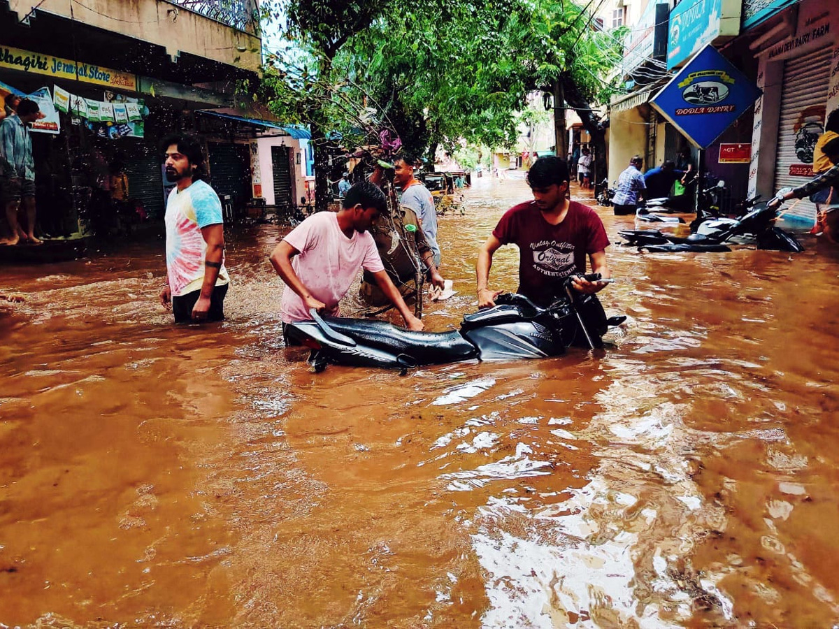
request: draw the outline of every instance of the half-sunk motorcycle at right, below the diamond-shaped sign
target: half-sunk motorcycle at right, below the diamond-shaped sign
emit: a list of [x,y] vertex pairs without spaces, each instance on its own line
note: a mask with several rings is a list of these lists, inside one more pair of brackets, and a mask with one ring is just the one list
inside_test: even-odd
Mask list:
[[685,238],[653,230],[618,233],[627,241],[625,244],[652,252],[723,252],[731,251],[729,244],[755,244],[758,249],[770,251],[804,251],[793,234],[774,224],[780,206],[769,207],[758,203],[758,199],[744,201],[746,212],[738,218],[706,217],[696,225],[696,233]]

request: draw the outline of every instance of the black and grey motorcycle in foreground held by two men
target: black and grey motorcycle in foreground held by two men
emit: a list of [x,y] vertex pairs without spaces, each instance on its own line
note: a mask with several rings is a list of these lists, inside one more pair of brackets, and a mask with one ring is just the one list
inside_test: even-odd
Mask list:
[[[590,282],[599,273],[583,276]],[[610,281],[610,280],[604,280]],[[311,310],[312,320],[286,327],[289,344],[310,348],[309,362],[315,372],[330,363],[408,369],[424,365],[478,359],[509,361],[560,356],[571,346],[602,347],[609,327],[625,316],[607,317],[593,294],[573,289],[571,278],[563,284],[565,294],[541,308],[520,294],[502,294],[492,308],[463,317],[460,330],[414,332],[385,321],[321,317]]]

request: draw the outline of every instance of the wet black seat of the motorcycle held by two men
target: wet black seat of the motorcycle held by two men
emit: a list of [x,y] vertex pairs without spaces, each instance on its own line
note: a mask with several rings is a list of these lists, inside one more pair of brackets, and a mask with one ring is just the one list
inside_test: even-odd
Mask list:
[[414,332],[387,321],[345,317],[322,319],[332,330],[349,336],[358,345],[410,356],[417,365],[465,361],[477,356],[477,348],[457,331]]

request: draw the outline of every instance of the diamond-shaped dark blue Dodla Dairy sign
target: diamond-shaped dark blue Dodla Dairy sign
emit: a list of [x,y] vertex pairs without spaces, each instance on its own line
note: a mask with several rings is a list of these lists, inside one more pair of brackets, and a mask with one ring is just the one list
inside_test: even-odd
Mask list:
[[758,87],[709,44],[650,103],[690,142],[708,148],[758,96]]

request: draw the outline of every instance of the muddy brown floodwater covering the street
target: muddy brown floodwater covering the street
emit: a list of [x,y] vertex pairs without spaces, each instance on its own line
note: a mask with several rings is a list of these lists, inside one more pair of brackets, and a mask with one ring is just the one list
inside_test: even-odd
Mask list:
[[[477,247],[528,197],[476,179]],[[633,217],[599,210],[616,241]],[[3,267],[0,627],[829,627],[839,256],[610,247],[601,355],[396,373],[285,356],[275,226],[228,320],[175,328],[163,245]],[[515,289],[498,252],[495,288]],[[357,299],[347,300],[357,309]]]

